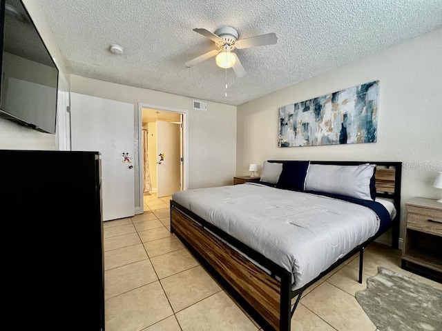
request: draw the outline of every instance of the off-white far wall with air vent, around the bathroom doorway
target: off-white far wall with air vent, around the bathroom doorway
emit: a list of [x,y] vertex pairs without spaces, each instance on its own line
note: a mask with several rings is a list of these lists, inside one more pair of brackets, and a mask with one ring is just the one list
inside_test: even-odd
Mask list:
[[[189,161],[189,189],[233,183],[236,172],[235,106],[208,102],[208,110],[202,112],[192,109],[193,99],[188,97],[76,75],[70,76],[70,88],[72,92],[133,103],[136,114],[138,103],[188,110],[186,119],[189,124],[189,150],[186,157]],[[138,128],[137,116],[135,121],[135,126]],[[135,135],[134,141],[137,141],[137,132]],[[138,166],[136,149],[137,145],[135,164]],[[135,185],[138,183],[139,179],[136,178]],[[137,187],[139,188],[139,185]]]

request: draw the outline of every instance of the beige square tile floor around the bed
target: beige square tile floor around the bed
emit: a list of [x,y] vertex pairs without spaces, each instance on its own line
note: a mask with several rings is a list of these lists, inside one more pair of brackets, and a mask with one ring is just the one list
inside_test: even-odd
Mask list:
[[[145,207],[153,210],[104,223],[106,330],[260,330],[169,232],[170,197],[146,197]],[[167,208],[156,208],[161,205],[157,200]],[[399,250],[369,245],[363,284],[357,281],[355,256],[305,291],[292,330],[375,331],[354,295],[366,287],[367,277],[377,274],[378,266],[442,288],[402,270],[400,257]]]

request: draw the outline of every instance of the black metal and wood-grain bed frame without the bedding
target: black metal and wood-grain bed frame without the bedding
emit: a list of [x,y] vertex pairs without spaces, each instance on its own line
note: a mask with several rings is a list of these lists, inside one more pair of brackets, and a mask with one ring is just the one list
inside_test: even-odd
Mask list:
[[[392,228],[392,247],[398,248],[401,220],[401,162],[310,161],[310,163],[376,164],[376,197],[392,199],[396,207],[396,217],[390,228]],[[302,292],[336,266],[353,257],[356,252],[360,253],[359,282],[362,283],[363,251],[369,243],[385,231],[376,233],[374,237],[355,247],[349,254],[319,274],[316,279],[312,279],[305,286],[294,291],[291,290],[290,272],[173,200],[171,200],[171,232],[176,234],[204,268],[260,324],[263,330],[290,331],[291,316],[296,310]],[[244,254],[270,271],[270,274],[244,257]],[[294,297],[297,298],[294,308],[291,309],[291,299]]]

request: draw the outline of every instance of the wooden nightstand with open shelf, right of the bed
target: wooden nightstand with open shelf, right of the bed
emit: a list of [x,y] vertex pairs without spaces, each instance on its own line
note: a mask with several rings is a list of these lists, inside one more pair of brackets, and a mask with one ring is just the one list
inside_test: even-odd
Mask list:
[[405,203],[402,268],[442,280],[442,203],[415,198]]

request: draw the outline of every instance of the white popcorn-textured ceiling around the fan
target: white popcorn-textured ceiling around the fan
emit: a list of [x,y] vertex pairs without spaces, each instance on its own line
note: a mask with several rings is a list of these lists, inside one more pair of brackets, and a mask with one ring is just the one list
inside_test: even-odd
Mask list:
[[[442,26],[441,0],[39,0],[71,73],[238,106]],[[193,32],[233,26],[240,39],[278,43],[235,50],[238,78]],[[108,47],[117,43],[124,54]]]

